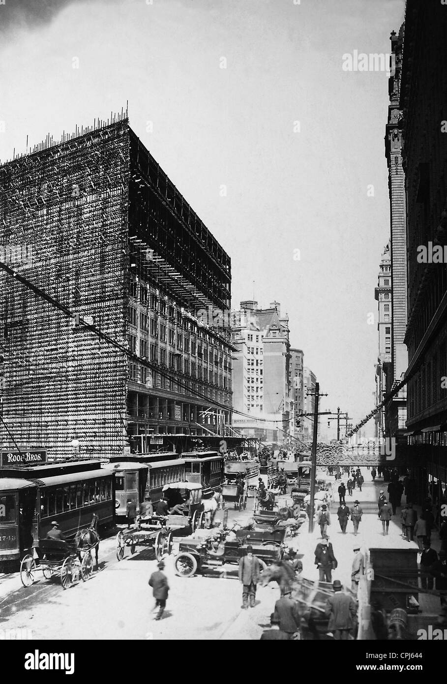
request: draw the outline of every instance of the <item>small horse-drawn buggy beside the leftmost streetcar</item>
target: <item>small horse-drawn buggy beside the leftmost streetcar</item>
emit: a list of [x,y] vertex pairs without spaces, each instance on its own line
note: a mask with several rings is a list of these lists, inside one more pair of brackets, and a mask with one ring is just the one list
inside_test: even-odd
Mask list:
[[64,589],[70,588],[79,579],[85,582],[92,575],[91,549],[82,549],[85,553],[81,559],[81,549],[76,543],[59,539],[40,539],[36,550],[39,555],[37,562],[30,554],[25,555],[21,562],[21,581],[24,587],[30,587],[33,584],[39,571],[45,579],[59,575]]

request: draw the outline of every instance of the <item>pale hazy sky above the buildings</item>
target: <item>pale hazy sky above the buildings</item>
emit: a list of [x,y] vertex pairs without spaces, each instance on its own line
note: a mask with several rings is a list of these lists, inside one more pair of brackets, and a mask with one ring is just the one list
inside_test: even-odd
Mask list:
[[[389,53],[404,11],[404,0],[5,0],[0,160],[128,101],[132,129],[230,254],[232,308],[280,302],[328,394],[322,410],[356,423],[375,404],[388,73],[344,70],[343,55]],[[334,421],[322,425],[333,437]]]

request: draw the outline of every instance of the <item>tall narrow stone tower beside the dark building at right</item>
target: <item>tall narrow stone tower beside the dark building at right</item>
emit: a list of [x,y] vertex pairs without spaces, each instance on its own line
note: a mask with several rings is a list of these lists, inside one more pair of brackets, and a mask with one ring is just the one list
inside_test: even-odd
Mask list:
[[[405,174],[402,166],[402,111],[399,107],[402,75],[403,26],[398,36],[391,34],[392,68],[388,90],[390,105],[385,129],[385,157],[388,164],[390,195],[390,256],[392,287],[391,364],[388,367],[388,390],[401,382],[408,364],[405,330],[407,327],[407,225],[405,215]],[[383,350],[381,350],[383,353]],[[380,362],[379,362],[380,363]],[[387,362],[388,363],[388,362]],[[382,397],[383,398],[383,397]],[[394,395],[385,407],[385,430],[388,436],[405,442],[407,389]]]

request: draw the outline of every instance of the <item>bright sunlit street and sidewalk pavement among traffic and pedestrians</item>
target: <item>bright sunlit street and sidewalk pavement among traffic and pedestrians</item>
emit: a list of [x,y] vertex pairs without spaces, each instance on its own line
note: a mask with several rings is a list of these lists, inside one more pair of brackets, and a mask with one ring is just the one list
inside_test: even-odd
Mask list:
[[[366,482],[363,491],[347,497],[350,505],[358,498],[364,510],[360,526],[360,541],[369,547],[409,548],[414,542],[401,538],[400,510],[390,523],[390,534],[383,537],[377,518],[377,498],[383,482],[370,482],[368,471],[362,469]],[[329,478],[333,481],[333,478]],[[345,478],[346,479],[346,478]],[[384,487],[386,491],[386,487]],[[230,520],[246,521],[252,513],[253,500],[247,511],[230,510]],[[329,538],[338,560],[333,579],[350,585],[353,559],[353,527],[348,523],[348,534],[342,535],[336,518],[338,499],[331,504],[332,524]],[[217,521],[219,520],[217,514]],[[300,555],[303,554],[303,575],[317,579],[314,549],[319,541],[319,528],[308,534],[301,528],[296,538]],[[174,547],[175,551],[175,547]],[[152,590],[148,587],[150,573],[157,562],[150,549],[134,556],[126,549],[126,556],[118,563],[115,538],[100,544],[100,572],[92,579],[63,590],[59,579],[46,580],[38,573],[38,581],[24,588],[18,573],[0,577],[0,630],[21,628],[32,632],[34,639],[131,639],[131,640],[257,640],[262,628],[267,627],[275,601],[279,597],[276,585],[258,587],[256,607],[241,610],[241,585],[236,566],[224,574],[217,570],[213,577],[177,577],[174,573],[174,554],[167,559],[166,574],[170,595],[165,617],[153,620]]]

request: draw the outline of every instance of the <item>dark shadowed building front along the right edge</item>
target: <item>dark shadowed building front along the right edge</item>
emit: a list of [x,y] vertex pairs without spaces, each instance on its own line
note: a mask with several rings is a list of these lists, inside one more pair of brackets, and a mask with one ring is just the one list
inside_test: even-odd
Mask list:
[[437,491],[447,479],[447,266],[444,257],[430,258],[435,248],[447,251],[446,35],[442,3],[407,0],[399,98],[407,191],[407,428],[409,456],[421,466],[421,496],[424,472],[436,478]]

